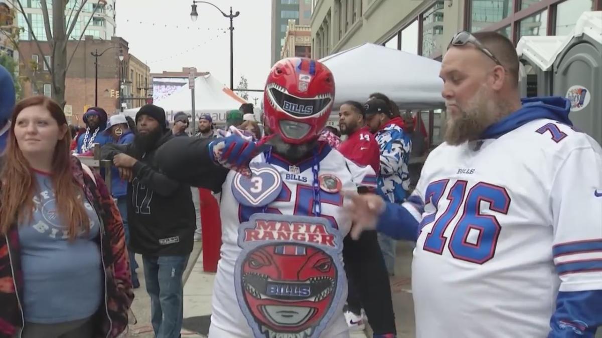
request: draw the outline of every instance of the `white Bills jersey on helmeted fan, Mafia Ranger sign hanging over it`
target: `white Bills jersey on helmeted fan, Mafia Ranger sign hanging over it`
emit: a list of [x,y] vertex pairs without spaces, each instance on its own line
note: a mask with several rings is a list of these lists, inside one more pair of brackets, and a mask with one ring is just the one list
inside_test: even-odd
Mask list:
[[[250,179],[248,189],[240,174],[231,171],[226,177],[210,338],[349,336],[341,250],[351,224],[341,217],[342,192],[359,185],[375,188],[376,176],[371,167],[359,167],[325,144],[317,158],[319,219],[308,218],[315,201],[313,159],[293,165],[271,155],[282,190],[265,207],[241,204],[237,194],[243,191],[251,199],[268,194],[270,168],[253,171],[258,178]],[[263,154],[253,159],[252,170],[262,163]]]

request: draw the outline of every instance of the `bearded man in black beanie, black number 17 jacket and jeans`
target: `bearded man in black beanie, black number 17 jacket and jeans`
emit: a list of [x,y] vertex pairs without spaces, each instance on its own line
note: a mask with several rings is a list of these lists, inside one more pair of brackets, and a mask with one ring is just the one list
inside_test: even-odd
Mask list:
[[193,248],[194,205],[190,186],[161,173],[155,150],[173,138],[165,112],[145,105],[136,114],[138,134],[126,145],[108,144],[102,158],[113,160],[128,185],[130,245],[142,254],[151,322],[157,338],[177,338],[182,328],[182,275]]

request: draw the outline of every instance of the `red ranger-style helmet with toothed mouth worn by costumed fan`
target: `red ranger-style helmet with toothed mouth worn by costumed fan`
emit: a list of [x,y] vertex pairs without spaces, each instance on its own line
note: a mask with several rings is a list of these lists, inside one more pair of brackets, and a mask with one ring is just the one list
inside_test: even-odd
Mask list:
[[264,91],[264,120],[285,143],[320,135],[332,111],[335,80],[328,67],[308,58],[286,58],[270,70]]

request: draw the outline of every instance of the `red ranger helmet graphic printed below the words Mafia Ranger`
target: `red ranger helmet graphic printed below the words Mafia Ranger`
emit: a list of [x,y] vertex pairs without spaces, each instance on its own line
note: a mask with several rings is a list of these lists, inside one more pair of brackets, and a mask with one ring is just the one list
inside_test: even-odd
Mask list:
[[337,268],[318,248],[268,244],[247,256],[242,279],[244,300],[267,337],[309,337],[332,304]]

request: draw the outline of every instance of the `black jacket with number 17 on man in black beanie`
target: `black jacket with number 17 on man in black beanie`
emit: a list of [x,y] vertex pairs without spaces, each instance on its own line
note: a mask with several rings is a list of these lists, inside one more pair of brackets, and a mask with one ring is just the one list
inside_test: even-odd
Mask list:
[[193,248],[196,217],[190,186],[165,176],[155,161],[156,150],[171,138],[167,132],[144,154],[137,152],[135,143],[102,147],[103,159],[119,153],[138,159],[128,184],[128,223],[129,245],[139,254],[184,256]]

